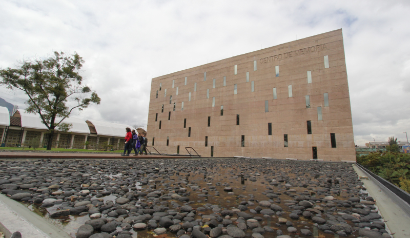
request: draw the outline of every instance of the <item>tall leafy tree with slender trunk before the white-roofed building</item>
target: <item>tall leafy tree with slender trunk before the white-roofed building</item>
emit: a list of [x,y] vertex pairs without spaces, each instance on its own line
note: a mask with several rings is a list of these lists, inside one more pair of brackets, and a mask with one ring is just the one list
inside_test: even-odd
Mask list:
[[[79,74],[84,60],[76,52],[54,52],[47,58],[24,59],[15,69],[0,69],[0,85],[10,90],[22,90],[29,97],[28,113],[38,113],[50,131],[47,149],[51,149],[54,129],[69,117],[74,109],[83,110],[99,104],[100,98],[87,85],[82,85]],[[75,102],[71,108],[68,101]],[[71,105],[71,104],[70,104]],[[61,125],[67,129],[67,125]]]

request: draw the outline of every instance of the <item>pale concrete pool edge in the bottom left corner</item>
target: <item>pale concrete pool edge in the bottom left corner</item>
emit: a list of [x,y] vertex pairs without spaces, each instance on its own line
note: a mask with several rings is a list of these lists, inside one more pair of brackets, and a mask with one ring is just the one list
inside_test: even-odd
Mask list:
[[0,194],[0,231],[6,238],[15,231],[22,233],[23,238],[71,238],[65,231],[3,194]]

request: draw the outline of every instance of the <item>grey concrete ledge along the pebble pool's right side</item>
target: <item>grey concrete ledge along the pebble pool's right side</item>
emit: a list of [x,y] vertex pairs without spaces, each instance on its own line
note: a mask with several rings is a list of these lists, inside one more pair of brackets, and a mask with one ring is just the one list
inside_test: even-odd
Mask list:
[[394,237],[410,237],[410,205],[388,190],[370,174],[353,165],[359,176],[366,176],[369,180],[362,180],[368,193],[376,201],[376,205]]

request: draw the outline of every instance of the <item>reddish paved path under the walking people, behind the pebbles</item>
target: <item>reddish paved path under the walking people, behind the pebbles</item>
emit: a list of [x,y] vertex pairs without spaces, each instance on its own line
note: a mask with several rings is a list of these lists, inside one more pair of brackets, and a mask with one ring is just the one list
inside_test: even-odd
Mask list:
[[189,156],[172,155],[138,155],[121,156],[119,153],[70,153],[70,152],[19,152],[0,151],[0,158],[190,158]]

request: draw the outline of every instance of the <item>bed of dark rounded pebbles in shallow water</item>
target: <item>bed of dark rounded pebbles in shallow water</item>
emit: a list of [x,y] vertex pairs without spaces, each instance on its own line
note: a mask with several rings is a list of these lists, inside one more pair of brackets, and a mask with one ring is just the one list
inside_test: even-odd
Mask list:
[[0,161],[0,190],[78,238],[392,237],[346,163]]

